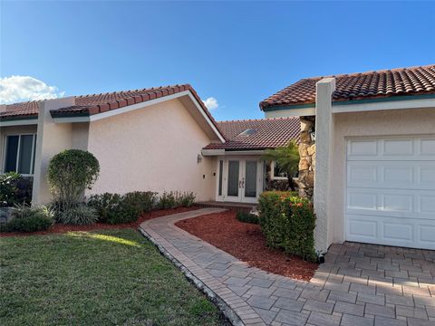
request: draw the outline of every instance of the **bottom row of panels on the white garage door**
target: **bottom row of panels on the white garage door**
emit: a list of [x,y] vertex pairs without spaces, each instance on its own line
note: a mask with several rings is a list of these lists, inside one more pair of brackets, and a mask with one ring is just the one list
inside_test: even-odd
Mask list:
[[435,249],[435,221],[348,215],[347,240]]

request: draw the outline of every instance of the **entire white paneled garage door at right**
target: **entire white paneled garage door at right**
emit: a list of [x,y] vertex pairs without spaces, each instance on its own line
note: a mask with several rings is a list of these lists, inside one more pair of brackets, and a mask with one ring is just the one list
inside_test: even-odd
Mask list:
[[346,239],[435,249],[435,136],[347,141]]

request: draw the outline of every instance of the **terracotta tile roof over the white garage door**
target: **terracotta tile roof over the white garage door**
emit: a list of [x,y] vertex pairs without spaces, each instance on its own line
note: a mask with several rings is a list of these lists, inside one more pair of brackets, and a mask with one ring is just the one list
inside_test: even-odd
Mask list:
[[[435,64],[378,72],[335,76],[333,101],[353,101],[391,96],[435,93]],[[262,110],[274,106],[315,102],[315,83],[325,77],[302,79],[260,102]]]

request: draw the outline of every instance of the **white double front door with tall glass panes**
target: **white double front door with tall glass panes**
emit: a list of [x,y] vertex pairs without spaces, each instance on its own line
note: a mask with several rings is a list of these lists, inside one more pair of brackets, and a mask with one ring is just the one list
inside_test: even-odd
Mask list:
[[218,160],[218,200],[256,203],[263,187],[263,164],[256,158]]

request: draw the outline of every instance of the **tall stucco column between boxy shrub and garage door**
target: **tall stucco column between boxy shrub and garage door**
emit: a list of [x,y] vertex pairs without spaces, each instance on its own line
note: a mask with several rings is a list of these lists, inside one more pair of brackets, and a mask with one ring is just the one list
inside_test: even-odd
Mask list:
[[328,218],[331,200],[331,153],[333,148],[333,103],[335,79],[324,78],[316,83],[315,94],[315,172],[314,211],[317,216],[314,230],[315,249],[324,254],[328,249]]

